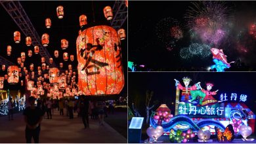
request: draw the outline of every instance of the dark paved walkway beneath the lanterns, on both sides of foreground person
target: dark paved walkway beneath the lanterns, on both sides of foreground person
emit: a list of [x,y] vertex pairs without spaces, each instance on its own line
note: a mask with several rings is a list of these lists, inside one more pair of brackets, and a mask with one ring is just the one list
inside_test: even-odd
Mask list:
[[[45,114],[46,115],[46,114]],[[127,143],[127,139],[106,122],[99,126],[98,120],[90,119],[90,128],[84,129],[80,117],[74,119],[60,116],[54,110],[53,119],[43,119],[40,143]],[[14,120],[0,117],[0,143],[26,143],[25,122],[21,113],[14,114]]]

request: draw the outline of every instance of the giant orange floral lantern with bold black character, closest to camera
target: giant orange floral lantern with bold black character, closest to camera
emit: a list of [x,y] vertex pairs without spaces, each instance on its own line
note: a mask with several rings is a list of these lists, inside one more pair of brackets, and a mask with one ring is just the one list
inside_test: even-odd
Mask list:
[[119,94],[125,81],[116,30],[110,26],[89,27],[77,37],[76,46],[78,85],[83,94]]

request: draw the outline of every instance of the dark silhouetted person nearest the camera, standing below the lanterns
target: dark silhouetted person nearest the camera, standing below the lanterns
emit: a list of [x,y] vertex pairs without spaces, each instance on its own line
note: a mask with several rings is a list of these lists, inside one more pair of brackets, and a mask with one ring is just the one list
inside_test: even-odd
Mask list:
[[24,110],[24,120],[26,122],[26,143],[39,143],[39,134],[41,129],[41,122],[43,120],[43,111],[39,107],[35,107],[35,98],[30,96],[28,98],[30,107]]

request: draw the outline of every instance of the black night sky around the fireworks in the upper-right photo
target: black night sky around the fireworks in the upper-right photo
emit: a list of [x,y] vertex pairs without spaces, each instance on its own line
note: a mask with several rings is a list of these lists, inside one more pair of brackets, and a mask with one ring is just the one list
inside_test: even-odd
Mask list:
[[[207,44],[210,47],[222,48],[224,54],[228,56],[228,62],[242,61],[242,65],[247,65],[251,69],[256,67],[256,39],[249,35],[249,26],[256,22],[256,2],[255,1],[223,1],[226,8],[226,21],[223,22],[223,39],[216,44],[205,43],[196,37],[192,38],[191,27],[184,18],[189,7],[193,7],[191,1],[132,1],[129,11],[129,61],[138,65],[144,64],[152,71],[180,71],[181,68],[196,67],[200,71],[207,71],[207,67],[213,65],[212,54],[202,58],[194,56],[184,59],[180,56],[181,48],[188,47],[191,43]],[[217,11],[217,10],[216,10]],[[156,27],[161,21],[169,22],[167,18],[176,19],[182,29],[182,38],[175,41],[172,50],[167,50],[163,41],[158,38]],[[164,20],[165,19],[165,20]],[[161,23],[164,24],[164,23]],[[162,25],[165,29],[170,29],[170,24]],[[167,33],[168,34],[168,33]],[[170,34],[171,35],[171,34]],[[170,37],[164,35],[163,37]],[[168,41],[169,40],[169,41]],[[166,43],[170,43],[168,39]],[[189,55],[189,54],[188,54]],[[198,71],[198,70],[195,70]],[[229,69],[236,71],[236,69]],[[240,71],[247,71],[240,69]]]

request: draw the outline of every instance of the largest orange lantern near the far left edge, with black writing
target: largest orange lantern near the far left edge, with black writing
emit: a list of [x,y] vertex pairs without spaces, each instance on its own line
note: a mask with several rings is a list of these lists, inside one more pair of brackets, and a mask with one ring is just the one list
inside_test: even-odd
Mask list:
[[8,75],[8,83],[9,84],[16,84],[18,83],[18,67],[16,65],[11,65],[7,69]]

